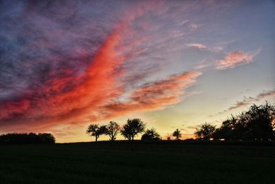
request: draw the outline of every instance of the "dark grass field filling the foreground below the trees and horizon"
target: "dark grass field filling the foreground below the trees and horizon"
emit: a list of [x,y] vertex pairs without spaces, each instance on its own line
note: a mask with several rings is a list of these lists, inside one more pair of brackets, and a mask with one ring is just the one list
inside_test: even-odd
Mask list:
[[136,141],[0,145],[0,183],[275,183],[275,147]]

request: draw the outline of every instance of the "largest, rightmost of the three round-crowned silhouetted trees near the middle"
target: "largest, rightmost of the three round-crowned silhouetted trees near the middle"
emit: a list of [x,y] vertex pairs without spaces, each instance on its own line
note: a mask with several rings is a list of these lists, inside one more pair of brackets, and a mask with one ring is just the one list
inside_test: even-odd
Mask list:
[[145,125],[141,119],[128,119],[120,132],[126,139],[133,140],[137,134],[144,132]]

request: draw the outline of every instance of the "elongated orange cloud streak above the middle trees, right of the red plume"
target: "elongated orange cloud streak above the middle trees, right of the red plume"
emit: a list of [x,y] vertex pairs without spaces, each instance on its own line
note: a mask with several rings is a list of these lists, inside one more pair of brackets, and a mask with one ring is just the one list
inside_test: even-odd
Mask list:
[[158,110],[166,105],[178,103],[184,90],[195,83],[201,72],[184,72],[168,79],[147,83],[131,92],[129,101],[104,105],[106,117],[121,116],[128,112]]

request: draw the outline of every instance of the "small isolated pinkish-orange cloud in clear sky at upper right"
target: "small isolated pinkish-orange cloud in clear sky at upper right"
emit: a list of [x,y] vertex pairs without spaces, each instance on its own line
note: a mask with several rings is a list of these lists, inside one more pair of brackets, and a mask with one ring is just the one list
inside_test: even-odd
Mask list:
[[233,52],[229,52],[225,59],[219,61],[217,63],[216,69],[225,70],[228,68],[235,68],[236,65],[248,64],[252,62],[252,59],[259,54],[260,50],[252,54],[245,53],[241,50],[235,50]]

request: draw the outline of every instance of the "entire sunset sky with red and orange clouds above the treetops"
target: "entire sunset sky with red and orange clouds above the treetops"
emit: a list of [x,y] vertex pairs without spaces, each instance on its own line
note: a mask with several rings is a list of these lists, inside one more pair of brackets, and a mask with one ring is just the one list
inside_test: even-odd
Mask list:
[[274,20],[268,0],[0,1],[0,134],[219,126],[275,102]]

